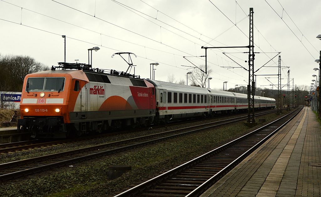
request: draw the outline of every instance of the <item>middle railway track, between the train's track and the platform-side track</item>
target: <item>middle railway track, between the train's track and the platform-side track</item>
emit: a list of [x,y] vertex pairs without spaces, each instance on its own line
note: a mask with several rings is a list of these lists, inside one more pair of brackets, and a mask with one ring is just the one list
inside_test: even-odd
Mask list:
[[[273,113],[274,111],[257,113],[256,116]],[[0,164],[0,181],[5,181],[21,176],[34,174],[40,171],[48,170],[55,167],[70,165],[76,162],[94,159],[100,156],[122,152],[129,149],[145,146],[147,144],[154,144],[171,138],[176,138],[183,135],[200,132],[225,124],[230,124],[247,119],[247,116],[232,118],[227,120],[206,123],[193,127],[186,127],[172,131],[166,131],[158,134],[146,135],[132,139],[112,142],[107,144],[100,144],[76,150],[59,152],[55,154],[39,156],[35,158],[13,161],[9,163]]]

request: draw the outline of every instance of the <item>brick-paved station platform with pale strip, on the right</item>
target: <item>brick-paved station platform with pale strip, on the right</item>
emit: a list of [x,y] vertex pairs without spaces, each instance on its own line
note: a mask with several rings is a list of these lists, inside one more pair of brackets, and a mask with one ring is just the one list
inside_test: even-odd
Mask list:
[[320,158],[320,123],[304,107],[201,196],[321,196]]

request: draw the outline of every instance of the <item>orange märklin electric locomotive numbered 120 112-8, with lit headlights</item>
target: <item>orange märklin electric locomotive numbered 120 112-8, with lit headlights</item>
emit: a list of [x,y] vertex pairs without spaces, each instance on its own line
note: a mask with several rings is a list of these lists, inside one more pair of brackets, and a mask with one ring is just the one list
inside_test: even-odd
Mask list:
[[25,77],[18,130],[32,137],[64,138],[153,121],[155,89],[150,82],[86,64],[59,64],[61,70],[53,66]]

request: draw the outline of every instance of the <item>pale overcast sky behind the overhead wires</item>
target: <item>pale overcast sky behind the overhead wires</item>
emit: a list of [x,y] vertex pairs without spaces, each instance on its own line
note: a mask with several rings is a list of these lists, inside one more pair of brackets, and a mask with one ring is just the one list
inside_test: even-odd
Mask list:
[[[249,44],[250,7],[254,9],[254,51],[259,52],[254,70],[281,52],[282,66],[290,67],[282,69],[282,84],[287,83],[290,70],[295,85],[310,86],[312,75],[318,75],[313,68],[319,67],[314,61],[321,50],[321,40],[316,38],[321,34],[320,0],[0,0],[0,53],[27,55],[56,66],[64,62],[61,35],[66,35],[66,62],[88,63],[87,49],[99,46],[92,53],[94,68],[126,71],[126,62],[111,56],[131,52],[137,55],[132,60],[141,78],[150,78],[150,63],[158,62],[156,80],[167,81],[170,74],[186,80],[191,69],[181,65],[193,65],[183,56],[205,55],[201,46]],[[239,67],[233,59],[248,68],[248,54],[242,53],[248,49],[222,50],[208,49],[208,67],[213,70],[210,87],[222,88],[224,81],[227,88],[245,85],[246,70],[226,67]],[[204,57],[188,60],[197,66],[205,64]],[[277,65],[278,56],[255,74],[278,74],[272,67]],[[274,77],[257,76],[257,87],[271,88],[265,85],[277,84]]]

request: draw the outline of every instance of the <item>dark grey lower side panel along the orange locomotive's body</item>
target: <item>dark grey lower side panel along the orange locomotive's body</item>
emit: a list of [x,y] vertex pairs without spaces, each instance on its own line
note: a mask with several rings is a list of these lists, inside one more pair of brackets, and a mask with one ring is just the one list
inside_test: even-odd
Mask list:
[[[70,122],[89,122],[139,117],[154,117],[155,110],[123,110],[123,111],[75,111],[70,112]],[[83,116],[84,115],[84,116]]]

